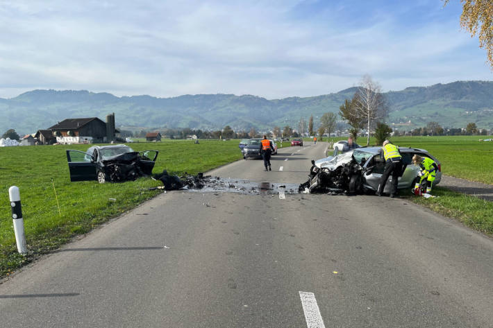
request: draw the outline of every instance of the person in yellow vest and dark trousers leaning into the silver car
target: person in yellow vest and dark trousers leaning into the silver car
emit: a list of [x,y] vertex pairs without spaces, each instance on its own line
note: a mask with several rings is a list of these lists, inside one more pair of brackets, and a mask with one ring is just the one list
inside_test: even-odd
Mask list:
[[390,198],[394,198],[397,195],[397,183],[399,175],[402,172],[402,156],[399,153],[399,147],[390,143],[390,141],[383,141],[383,158],[385,159],[385,169],[383,170],[382,178],[380,178],[380,184],[378,184],[378,190],[376,196],[382,196],[383,189],[385,189],[385,183],[392,173],[392,187],[390,189]]

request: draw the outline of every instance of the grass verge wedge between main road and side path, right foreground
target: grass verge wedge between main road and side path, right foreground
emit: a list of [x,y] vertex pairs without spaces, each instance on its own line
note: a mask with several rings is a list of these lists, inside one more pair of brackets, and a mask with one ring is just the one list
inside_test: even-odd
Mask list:
[[433,195],[438,197],[409,196],[408,199],[443,216],[456,218],[474,230],[493,236],[493,202],[440,187],[433,188]]

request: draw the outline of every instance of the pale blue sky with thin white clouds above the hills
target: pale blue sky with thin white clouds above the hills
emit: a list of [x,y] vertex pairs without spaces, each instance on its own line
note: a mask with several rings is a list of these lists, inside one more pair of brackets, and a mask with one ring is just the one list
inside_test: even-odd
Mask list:
[[0,0],[0,98],[318,96],[492,80],[460,0]]

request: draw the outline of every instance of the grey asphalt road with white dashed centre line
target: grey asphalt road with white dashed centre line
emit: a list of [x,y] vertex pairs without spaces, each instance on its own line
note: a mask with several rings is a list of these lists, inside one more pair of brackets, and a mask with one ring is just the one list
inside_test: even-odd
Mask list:
[[[212,174],[300,183],[325,148]],[[0,284],[0,326],[493,327],[492,239],[399,198],[281,198],[163,193]]]

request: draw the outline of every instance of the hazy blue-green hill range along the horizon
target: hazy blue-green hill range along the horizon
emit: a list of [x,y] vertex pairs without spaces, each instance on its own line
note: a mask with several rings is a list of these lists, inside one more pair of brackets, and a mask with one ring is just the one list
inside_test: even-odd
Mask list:
[[[335,112],[355,87],[334,94],[313,97],[290,97],[267,100],[258,96],[233,94],[198,94],[173,98],[153,96],[117,97],[108,93],[83,91],[34,90],[15,98],[0,98],[0,133],[14,128],[19,134],[48,128],[67,118],[115,113],[117,126],[140,128],[219,129],[226,125],[234,130],[251,127],[272,128],[286,125],[296,128],[300,117],[315,123],[324,112]],[[479,128],[493,127],[493,82],[458,81],[431,87],[408,87],[387,92],[390,117],[409,130],[437,121],[444,127],[465,127],[476,122]],[[410,121],[410,123],[409,123]]]

